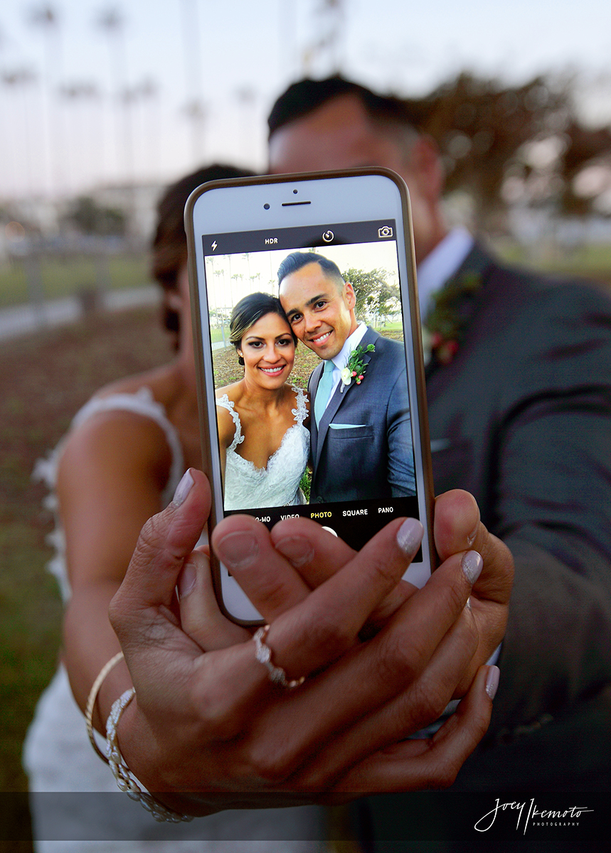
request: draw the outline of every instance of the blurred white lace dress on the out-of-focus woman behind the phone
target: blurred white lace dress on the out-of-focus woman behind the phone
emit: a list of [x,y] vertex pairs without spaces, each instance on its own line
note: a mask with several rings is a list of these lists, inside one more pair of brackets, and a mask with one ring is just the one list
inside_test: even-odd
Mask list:
[[[183,474],[183,451],[165,409],[147,387],[134,394],[93,397],[75,416],[71,429],[98,412],[113,409],[151,418],[165,433],[172,451],[171,472],[162,496],[166,506]],[[62,447],[63,441],[46,459],[39,460],[33,476],[49,486],[45,503],[56,519],[49,537],[55,548],[49,571],[67,601],[65,540],[55,496]],[[236,809],[191,823],[156,823],[140,804],[119,792],[110,769],[91,748],[84,715],[73,699],[63,665],[38,702],[23,763],[29,777],[37,853],[322,853],[326,849],[317,840],[324,834],[324,813],[317,806]]]

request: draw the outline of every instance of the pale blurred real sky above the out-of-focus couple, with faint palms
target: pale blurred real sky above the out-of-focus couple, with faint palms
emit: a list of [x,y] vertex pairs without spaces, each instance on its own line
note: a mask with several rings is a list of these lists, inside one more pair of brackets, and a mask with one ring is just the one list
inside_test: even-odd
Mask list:
[[[2,0],[0,200],[167,182],[212,160],[264,169],[276,96],[338,67],[407,96],[463,69],[512,83],[570,70],[585,118],[611,121],[608,0],[332,5]],[[45,8],[56,25],[32,21]]]

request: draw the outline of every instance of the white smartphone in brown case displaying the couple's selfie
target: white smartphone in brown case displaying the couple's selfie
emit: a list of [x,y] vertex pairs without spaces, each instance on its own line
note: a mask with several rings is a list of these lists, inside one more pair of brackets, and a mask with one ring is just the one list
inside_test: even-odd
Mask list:
[[[234,513],[269,528],[297,515],[359,549],[415,517],[425,534],[405,577],[422,586],[434,490],[403,179],[213,181],[190,195],[185,228],[210,532]],[[212,570],[225,615],[260,623],[213,555]]]

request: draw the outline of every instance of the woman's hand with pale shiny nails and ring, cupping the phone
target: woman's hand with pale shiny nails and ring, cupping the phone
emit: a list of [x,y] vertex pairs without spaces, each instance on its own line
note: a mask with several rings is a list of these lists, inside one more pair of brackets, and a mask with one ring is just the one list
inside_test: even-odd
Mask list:
[[[498,670],[480,668],[432,740],[404,739],[439,717],[478,653],[465,607],[478,556],[451,554],[422,590],[396,601],[422,536],[417,522],[398,519],[335,574],[328,546],[315,544],[311,566],[322,574],[311,589],[263,525],[225,519],[213,544],[271,624],[273,663],[306,676],[285,690],[255,659],[250,633],[218,611],[207,554],[192,552],[209,492],[191,474],[183,502],[145,525],[110,611],[137,693],[119,744],[138,779],[192,814],[451,784],[486,731],[486,682],[493,693]],[[385,607],[385,624],[362,641]]]

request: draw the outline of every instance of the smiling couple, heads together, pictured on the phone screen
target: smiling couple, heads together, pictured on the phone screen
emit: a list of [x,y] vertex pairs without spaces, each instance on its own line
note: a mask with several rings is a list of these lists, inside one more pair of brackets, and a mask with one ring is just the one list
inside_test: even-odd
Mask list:
[[[225,510],[415,495],[403,345],[358,320],[323,255],[291,252],[277,281],[279,298],[231,312],[244,376],[216,392]],[[307,392],[291,380],[299,344],[320,359]]]

